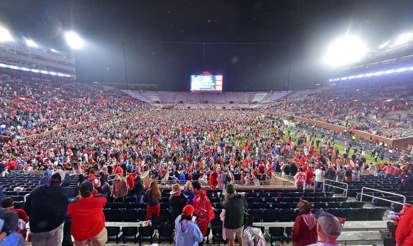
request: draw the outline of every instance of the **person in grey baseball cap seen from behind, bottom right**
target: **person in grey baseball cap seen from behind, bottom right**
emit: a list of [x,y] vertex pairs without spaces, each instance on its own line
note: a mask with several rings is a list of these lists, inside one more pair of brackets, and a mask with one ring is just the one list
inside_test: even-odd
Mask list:
[[317,234],[321,240],[309,246],[341,246],[337,242],[337,238],[341,234],[341,224],[337,217],[325,213],[323,210],[318,210],[315,216],[317,218]]

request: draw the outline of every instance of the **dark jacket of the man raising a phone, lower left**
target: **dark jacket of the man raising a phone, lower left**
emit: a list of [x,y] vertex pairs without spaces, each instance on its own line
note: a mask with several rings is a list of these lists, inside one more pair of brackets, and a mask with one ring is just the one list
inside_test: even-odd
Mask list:
[[[79,184],[85,181],[79,175]],[[47,232],[58,228],[64,221],[69,198],[79,195],[79,187],[48,187],[38,185],[27,196],[25,211],[30,217],[30,231]]]

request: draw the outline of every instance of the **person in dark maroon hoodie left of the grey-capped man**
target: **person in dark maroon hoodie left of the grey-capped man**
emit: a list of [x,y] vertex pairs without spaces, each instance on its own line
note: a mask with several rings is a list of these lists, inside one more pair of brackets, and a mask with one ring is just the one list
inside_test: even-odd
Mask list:
[[317,243],[317,219],[311,213],[311,204],[301,200],[298,203],[299,215],[295,219],[291,237],[293,246],[305,246]]

